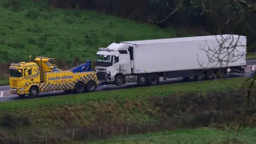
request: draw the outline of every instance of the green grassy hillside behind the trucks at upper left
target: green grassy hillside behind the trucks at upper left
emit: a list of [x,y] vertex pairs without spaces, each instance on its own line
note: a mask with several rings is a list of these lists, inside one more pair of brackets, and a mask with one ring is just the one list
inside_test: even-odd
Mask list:
[[160,29],[92,11],[61,10],[45,3],[0,0],[0,63],[43,55],[65,61],[95,59],[113,42],[177,36]]

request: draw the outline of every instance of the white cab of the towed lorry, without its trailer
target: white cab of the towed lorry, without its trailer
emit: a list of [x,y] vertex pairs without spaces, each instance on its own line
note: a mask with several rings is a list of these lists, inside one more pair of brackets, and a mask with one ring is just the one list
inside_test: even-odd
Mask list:
[[95,64],[99,82],[117,86],[124,84],[132,69],[129,45],[112,43],[101,47]]

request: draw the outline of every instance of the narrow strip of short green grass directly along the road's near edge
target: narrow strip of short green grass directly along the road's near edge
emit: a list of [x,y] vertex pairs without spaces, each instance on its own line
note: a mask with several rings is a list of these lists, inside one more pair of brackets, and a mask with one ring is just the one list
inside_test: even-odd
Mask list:
[[148,99],[153,96],[164,97],[171,94],[186,92],[204,92],[207,90],[225,91],[227,87],[241,87],[247,78],[221,79],[219,81],[191,82],[173,85],[161,85],[150,87],[139,87],[126,90],[115,90],[105,92],[83,93],[52,97],[46,99],[30,99],[24,101],[13,101],[0,103],[2,110],[16,110],[22,108],[49,107],[53,105],[84,105],[90,101],[107,101],[111,99],[138,100]]

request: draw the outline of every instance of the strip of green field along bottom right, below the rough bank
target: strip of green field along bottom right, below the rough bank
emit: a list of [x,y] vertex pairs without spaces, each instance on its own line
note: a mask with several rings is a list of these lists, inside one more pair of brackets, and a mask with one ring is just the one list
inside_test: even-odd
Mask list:
[[130,137],[117,137],[108,140],[86,141],[83,143],[124,143],[124,144],[150,144],[150,143],[255,143],[256,130],[245,129],[235,137],[235,130],[218,130],[202,128],[196,130],[174,130],[163,132],[152,132],[147,134],[132,135]]

